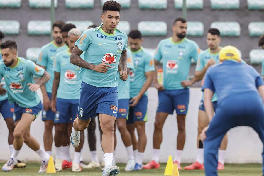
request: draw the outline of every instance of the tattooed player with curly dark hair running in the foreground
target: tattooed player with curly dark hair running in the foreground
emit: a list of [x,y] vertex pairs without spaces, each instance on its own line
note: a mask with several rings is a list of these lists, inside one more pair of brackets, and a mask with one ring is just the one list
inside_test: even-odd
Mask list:
[[[112,165],[114,123],[118,110],[117,82],[118,75],[123,81],[128,77],[127,35],[116,29],[120,8],[116,1],[106,1],[101,15],[103,24],[98,28],[84,31],[70,56],[72,64],[82,67],[79,74],[82,84],[78,117],[73,123],[71,143],[78,147],[80,131],[84,131],[90,119],[99,114],[105,163],[102,176],[119,173],[119,167]],[[83,52],[84,59],[79,57]]]

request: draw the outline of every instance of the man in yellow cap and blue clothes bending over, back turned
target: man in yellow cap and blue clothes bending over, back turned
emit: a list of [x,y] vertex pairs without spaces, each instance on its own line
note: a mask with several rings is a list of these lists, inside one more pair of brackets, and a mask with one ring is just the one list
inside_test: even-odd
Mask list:
[[[206,176],[217,176],[217,153],[224,135],[236,126],[252,127],[264,144],[264,86],[260,74],[241,63],[239,50],[226,46],[219,53],[221,64],[211,66],[204,80],[204,107],[209,125],[201,133],[204,139]],[[217,110],[211,101],[217,94]],[[264,152],[262,153],[264,158]],[[264,172],[264,165],[262,166]]]

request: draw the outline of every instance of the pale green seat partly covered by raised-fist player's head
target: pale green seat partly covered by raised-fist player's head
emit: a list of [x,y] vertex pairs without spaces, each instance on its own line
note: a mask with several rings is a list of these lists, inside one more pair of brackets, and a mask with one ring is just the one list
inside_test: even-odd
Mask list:
[[239,36],[240,25],[238,22],[213,22],[211,28],[219,29],[221,36]]

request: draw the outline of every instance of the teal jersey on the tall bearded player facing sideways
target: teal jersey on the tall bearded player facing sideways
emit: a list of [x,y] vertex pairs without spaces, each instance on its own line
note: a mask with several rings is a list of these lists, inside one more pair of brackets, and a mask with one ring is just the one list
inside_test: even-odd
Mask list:
[[167,90],[184,89],[181,82],[187,80],[191,59],[198,59],[198,45],[187,38],[174,43],[172,37],[161,40],[156,49],[154,59],[163,59],[163,86]]

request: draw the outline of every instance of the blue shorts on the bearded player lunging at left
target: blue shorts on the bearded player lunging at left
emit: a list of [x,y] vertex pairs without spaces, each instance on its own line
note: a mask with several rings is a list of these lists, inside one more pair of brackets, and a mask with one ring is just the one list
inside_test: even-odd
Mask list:
[[14,121],[15,122],[21,119],[23,113],[32,114],[36,119],[38,117],[38,114],[43,108],[41,101],[39,102],[37,106],[31,107],[31,108],[20,107],[16,103],[14,103],[14,106],[15,106],[15,111],[14,111],[14,116],[15,116]]

